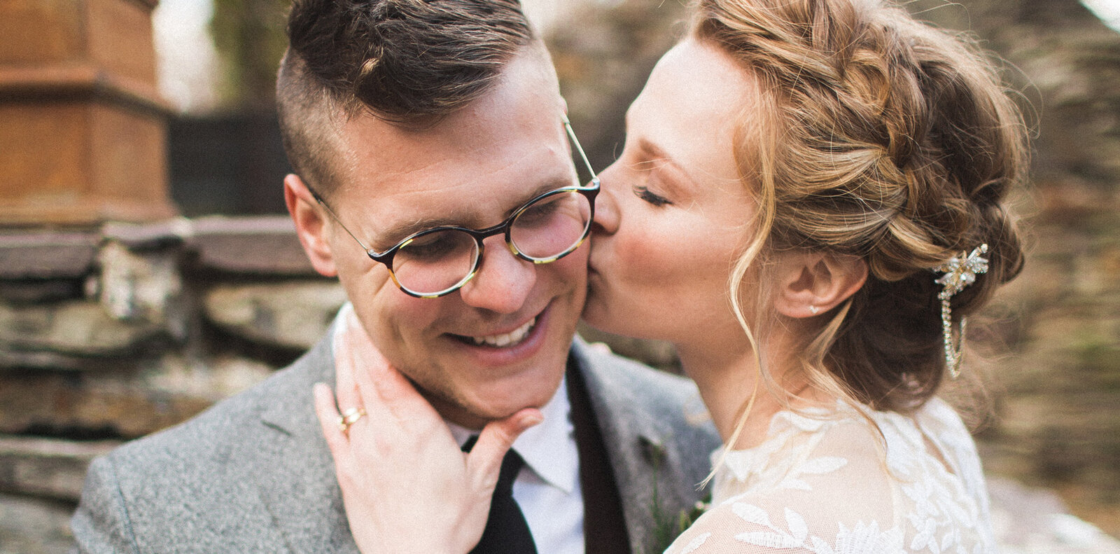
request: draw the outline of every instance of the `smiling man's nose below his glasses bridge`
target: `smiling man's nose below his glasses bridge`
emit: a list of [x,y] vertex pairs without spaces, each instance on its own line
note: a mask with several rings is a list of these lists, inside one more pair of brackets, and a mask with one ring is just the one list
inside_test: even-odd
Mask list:
[[536,285],[536,266],[512,251],[502,236],[484,241],[482,267],[459,295],[470,306],[510,314],[525,304]]

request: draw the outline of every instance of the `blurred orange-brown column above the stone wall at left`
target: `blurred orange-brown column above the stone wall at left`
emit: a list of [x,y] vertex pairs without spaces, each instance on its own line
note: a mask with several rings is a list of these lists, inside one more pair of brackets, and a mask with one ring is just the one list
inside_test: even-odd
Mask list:
[[157,0],[0,0],[0,224],[172,216]]

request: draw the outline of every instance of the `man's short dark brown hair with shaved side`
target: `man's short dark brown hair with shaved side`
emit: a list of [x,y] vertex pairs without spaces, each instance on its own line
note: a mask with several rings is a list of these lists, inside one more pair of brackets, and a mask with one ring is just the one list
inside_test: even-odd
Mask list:
[[517,0],[296,0],[277,110],[295,172],[336,183],[344,118],[429,124],[493,89],[534,41]]

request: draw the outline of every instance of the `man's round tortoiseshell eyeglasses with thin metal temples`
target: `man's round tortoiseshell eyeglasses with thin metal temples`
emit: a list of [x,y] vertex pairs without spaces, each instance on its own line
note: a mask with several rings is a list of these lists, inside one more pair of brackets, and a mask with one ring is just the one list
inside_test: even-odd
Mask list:
[[487,237],[504,234],[510,251],[533,264],[548,264],[563,258],[587,239],[595,216],[599,177],[579,145],[568,117],[561,117],[568,137],[591,175],[591,183],[587,186],[564,186],[538,195],[494,227],[437,227],[410,234],[392,248],[377,252],[346,229],[318,193],[311,190],[311,194],[371,259],[389,268],[393,283],[405,294],[418,298],[448,295],[478,273],[483,259],[483,239]]

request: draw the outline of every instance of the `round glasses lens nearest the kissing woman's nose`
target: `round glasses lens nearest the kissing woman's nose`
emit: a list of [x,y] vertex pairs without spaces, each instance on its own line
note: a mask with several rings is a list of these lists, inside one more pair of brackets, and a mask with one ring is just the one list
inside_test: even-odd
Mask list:
[[551,261],[576,249],[591,224],[591,203],[576,191],[551,194],[525,206],[510,228],[523,256]]

